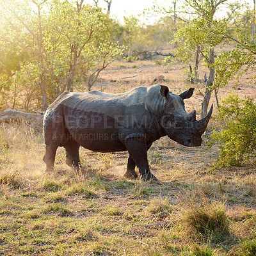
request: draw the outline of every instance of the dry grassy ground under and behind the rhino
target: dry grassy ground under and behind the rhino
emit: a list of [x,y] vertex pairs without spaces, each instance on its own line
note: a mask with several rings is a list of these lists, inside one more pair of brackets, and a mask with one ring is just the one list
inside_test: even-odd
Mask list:
[[[116,61],[93,89],[127,92],[155,77],[173,93],[191,86],[181,63]],[[203,79],[204,68],[200,68]],[[135,76],[137,75],[137,76]],[[253,74],[220,91],[255,99]],[[135,76],[135,77],[132,77]],[[124,78],[130,77],[130,78]],[[203,88],[203,86],[202,86]],[[202,96],[186,100],[200,118]],[[216,100],[212,97],[216,111]],[[213,120],[214,121],[214,120]],[[214,122],[209,124],[211,132]],[[59,148],[45,173],[42,133],[26,124],[0,127],[0,255],[256,255],[255,166],[214,170],[219,145],[186,148],[164,137],[148,151],[158,182],[127,180],[127,153],[81,148],[81,173]]]

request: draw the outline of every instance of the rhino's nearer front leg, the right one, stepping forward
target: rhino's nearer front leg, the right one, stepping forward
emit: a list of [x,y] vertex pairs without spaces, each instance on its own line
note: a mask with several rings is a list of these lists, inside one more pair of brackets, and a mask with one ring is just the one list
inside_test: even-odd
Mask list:
[[143,139],[129,138],[125,140],[125,147],[136,166],[138,166],[142,179],[144,181],[156,179],[149,170],[146,141]]

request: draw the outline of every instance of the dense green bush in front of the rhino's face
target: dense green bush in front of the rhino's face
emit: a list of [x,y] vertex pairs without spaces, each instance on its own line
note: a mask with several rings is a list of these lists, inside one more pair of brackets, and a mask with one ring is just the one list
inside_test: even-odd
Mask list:
[[[220,125],[212,133],[211,145],[221,142],[215,167],[241,166],[255,162],[256,105],[250,97],[229,95],[222,100],[216,120]],[[210,146],[211,146],[210,145]]]

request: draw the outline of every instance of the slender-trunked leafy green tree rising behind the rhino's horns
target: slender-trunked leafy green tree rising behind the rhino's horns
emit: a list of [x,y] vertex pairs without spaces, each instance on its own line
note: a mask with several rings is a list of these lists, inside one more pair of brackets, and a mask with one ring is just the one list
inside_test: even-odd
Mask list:
[[207,108],[211,99],[211,92],[214,87],[215,72],[215,47],[224,42],[219,31],[226,28],[223,20],[217,20],[215,14],[218,8],[221,7],[227,0],[186,0],[184,12],[192,15],[189,24],[177,31],[175,34],[175,43],[177,49],[175,50],[176,60],[182,60],[190,64],[195,56],[195,66],[193,76],[195,79],[198,76],[198,58],[203,56],[204,65],[209,70],[209,76],[205,83],[204,99],[202,101],[201,117],[207,115]]

